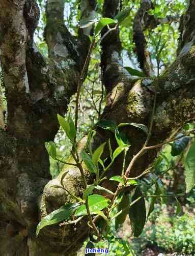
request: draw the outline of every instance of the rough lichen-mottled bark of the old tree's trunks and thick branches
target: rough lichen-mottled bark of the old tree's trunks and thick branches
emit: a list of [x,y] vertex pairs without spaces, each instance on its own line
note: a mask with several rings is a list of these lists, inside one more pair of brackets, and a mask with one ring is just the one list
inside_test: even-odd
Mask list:
[[[29,17],[24,12],[26,2],[35,8],[34,22],[26,18]],[[113,18],[121,8],[120,2],[105,0],[103,15]],[[195,1],[189,1],[182,18],[178,58],[160,76],[150,145],[160,143],[195,118],[194,7]],[[33,0],[0,0],[0,58],[8,103],[8,131],[0,131],[0,255],[75,255],[89,234],[85,219],[65,229],[58,225],[45,227],[38,238],[35,230],[42,217],[73,201],[61,189],[51,187],[59,185],[62,173],[50,180],[44,143],[53,140],[59,128],[57,113],[64,115],[70,96],[76,92],[90,44],[86,33],[91,33],[92,27],[79,30],[75,40],[63,22],[63,1],[48,0],[45,39],[49,59],[45,59],[32,42],[33,26],[39,14],[36,8]],[[81,18],[92,17],[94,10],[95,1],[81,0]],[[151,83],[152,88],[152,79],[132,80],[127,74],[122,65],[118,30],[110,33],[101,47],[102,79],[107,92],[102,119],[148,125],[154,95],[145,85]],[[131,140],[128,164],[146,136],[136,128],[124,130]],[[113,139],[112,136],[97,129],[94,147],[108,137]],[[85,138],[80,149],[83,145]],[[131,175],[143,172],[158,150],[140,158]],[[112,172],[118,174],[121,166],[121,159],[118,159]],[[67,169],[70,172],[64,184],[80,195],[83,184],[78,169],[65,166]]]

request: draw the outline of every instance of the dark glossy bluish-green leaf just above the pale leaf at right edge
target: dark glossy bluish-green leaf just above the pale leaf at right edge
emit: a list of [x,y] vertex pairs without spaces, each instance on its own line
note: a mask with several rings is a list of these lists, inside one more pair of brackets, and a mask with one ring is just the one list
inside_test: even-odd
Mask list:
[[[179,133],[177,135],[177,137],[182,136],[183,133]],[[189,143],[190,137],[189,136],[185,136],[182,138],[179,138],[177,140],[174,141],[174,143],[171,145],[172,149],[171,149],[171,154],[172,156],[178,156],[181,154],[181,152],[187,147],[188,143]]]

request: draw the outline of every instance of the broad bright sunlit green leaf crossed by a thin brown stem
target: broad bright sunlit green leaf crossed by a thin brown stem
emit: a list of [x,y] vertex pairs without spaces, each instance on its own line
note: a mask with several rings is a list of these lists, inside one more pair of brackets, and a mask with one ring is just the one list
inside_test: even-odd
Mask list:
[[[90,213],[101,211],[106,208],[110,200],[106,199],[103,195],[93,194],[88,197]],[[87,215],[85,205],[81,205],[75,212],[75,216]]]

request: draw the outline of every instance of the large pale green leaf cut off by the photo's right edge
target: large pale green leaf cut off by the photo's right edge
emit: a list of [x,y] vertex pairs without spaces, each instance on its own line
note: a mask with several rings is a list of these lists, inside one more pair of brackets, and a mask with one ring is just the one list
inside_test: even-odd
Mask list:
[[195,186],[195,140],[189,149],[184,162],[184,174],[186,183],[186,193]]

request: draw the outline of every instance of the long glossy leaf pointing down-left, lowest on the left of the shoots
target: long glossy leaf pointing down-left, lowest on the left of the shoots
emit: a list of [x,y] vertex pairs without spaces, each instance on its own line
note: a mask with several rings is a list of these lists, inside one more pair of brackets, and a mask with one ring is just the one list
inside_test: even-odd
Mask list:
[[55,210],[48,214],[45,218],[43,218],[38,226],[37,226],[37,231],[36,231],[36,236],[39,235],[39,232],[41,229],[43,229],[44,226],[52,225],[52,224],[57,224],[61,222],[62,220],[68,220],[73,211],[78,208],[80,204],[75,203],[75,204],[66,204],[62,207],[60,207],[58,210]]

